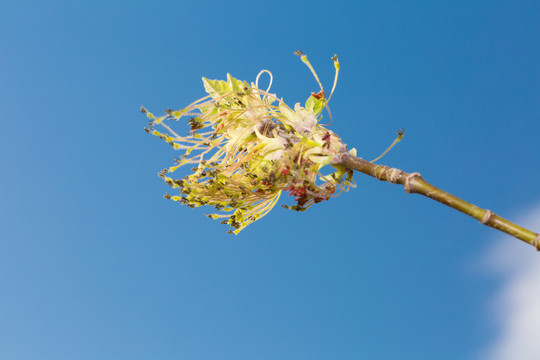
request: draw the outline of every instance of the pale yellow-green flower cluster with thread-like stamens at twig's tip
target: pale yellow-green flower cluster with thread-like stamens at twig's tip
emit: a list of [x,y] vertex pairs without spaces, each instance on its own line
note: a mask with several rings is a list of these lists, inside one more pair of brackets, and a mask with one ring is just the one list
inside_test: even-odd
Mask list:
[[[299,55],[319,82],[307,57]],[[337,80],[339,62],[336,56],[333,60]],[[222,223],[230,225],[229,232],[235,234],[266,215],[282,191],[296,201],[287,208],[303,211],[353,185],[352,172],[338,164],[346,145],[319,124],[329,100],[320,82],[321,91],[313,93],[305,106],[297,103],[290,108],[268,92],[270,86],[259,89],[263,73],[270,75],[271,85],[272,75],[267,70],[251,84],[231,75],[227,81],[203,78],[208,96],[186,108],[167,110],[162,117],[141,109],[150,119],[146,131],[183,151],[174,166],[159,174],[180,191],[165,197],[189,207],[215,207],[223,213],[208,216],[224,218]],[[184,118],[190,129],[181,136],[172,123]],[[171,177],[188,164],[194,164],[192,174],[182,179]],[[325,165],[332,165],[335,171],[323,176],[320,170]]]

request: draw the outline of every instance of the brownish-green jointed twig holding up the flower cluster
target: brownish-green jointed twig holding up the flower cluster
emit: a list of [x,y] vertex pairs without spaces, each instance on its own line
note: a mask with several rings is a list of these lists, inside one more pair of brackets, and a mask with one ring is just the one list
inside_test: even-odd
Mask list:
[[425,181],[419,173],[406,173],[399,169],[390,168],[384,165],[373,164],[364,159],[357,158],[350,154],[343,154],[341,165],[351,170],[362,172],[366,175],[387,181],[393,184],[403,185],[408,193],[416,193],[427,196],[444,205],[450,206],[462,213],[469,215],[482,224],[512,235],[540,250],[540,235],[527,230],[513,222],[493,213],[490,210],[479,208],[463,199],[460,199],[444,190],[436,188]]

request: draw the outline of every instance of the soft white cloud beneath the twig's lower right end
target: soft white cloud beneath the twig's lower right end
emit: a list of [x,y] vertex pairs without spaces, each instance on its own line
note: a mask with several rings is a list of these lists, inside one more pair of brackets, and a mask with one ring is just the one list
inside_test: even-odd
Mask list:
[[[540,206],[518,224],[540,229]],[[509,237],[499,238],[488,267],[502,279],[488,301],[496,335],[483,352],[490,360],[540,359],[540,252]]]

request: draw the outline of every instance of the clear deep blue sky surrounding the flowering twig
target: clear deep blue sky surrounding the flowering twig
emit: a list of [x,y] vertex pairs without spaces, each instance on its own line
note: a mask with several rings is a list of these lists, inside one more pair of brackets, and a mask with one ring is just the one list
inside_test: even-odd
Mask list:
[[327,87],[337,53],[350,147],[371,159],[403,127],[382,163],[512,218],[540,201],[539,38],[532,0],[3,3],[0,358],[477,358],[495,230],[359,174],[227,235],[162,198],[177,154],[139,107],[261,69],[303,102],[293,51]]

